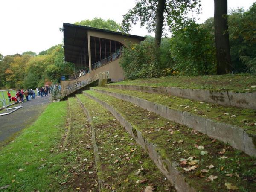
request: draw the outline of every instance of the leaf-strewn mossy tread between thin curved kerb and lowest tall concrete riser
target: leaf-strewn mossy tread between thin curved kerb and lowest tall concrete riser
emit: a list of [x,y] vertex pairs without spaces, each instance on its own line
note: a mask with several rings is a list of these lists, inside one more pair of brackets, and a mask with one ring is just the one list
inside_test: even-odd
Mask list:
[[108,110],[87,96],[77,95],[77,98],[94,130],[100,191],[175,191],[148,154]]

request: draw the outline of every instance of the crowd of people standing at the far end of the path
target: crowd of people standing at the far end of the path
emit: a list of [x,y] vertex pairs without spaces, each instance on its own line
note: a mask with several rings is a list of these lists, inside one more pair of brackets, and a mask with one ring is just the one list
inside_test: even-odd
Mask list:
[[14,101],[15,103],[18,102],[24,102],[24,96],[26,97],[27,101],[30,101],[31,99],[35,99],[35,92],[37,93],[37,96],[44,97],[48,96],[48,93],[50,93],[50,87],[44,86],[40,88],[36,88],[36,90],[28,89],[28,90],[17,90],[15,93],[15,96],[11,96],[10,91],[7,92],[9,102]]

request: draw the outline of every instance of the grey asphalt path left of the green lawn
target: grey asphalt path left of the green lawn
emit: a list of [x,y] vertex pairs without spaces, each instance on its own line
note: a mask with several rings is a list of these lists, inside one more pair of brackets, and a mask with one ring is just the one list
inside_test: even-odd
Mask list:
[[[0,146],[4,145],[8,138],[15,137],[18,131],[31,125],[49,104],[49,96],[41,98],[37,96],[17,111],[0,116]],[[46,122],[47,124],[47,122]]]

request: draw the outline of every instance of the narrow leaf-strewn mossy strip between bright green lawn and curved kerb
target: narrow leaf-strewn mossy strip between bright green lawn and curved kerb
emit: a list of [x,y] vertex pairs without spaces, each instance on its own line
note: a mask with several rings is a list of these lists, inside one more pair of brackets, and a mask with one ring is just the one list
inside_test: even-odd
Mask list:
[[67,174],[63,174],[61,185],[68,185],[66,191],[98,192],[97,169],[91,146],[91,131],[87,117],[75,98],[69,98],[68,131],[62,145],[63,151],[70,151],[65,159]]

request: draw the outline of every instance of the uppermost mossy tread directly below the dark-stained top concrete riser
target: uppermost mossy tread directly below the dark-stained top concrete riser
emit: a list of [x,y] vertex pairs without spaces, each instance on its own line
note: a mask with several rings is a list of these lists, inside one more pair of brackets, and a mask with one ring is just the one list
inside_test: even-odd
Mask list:
[[[157,93],[145,93],[133,90],[113,89],[108,87],[93,87],[99,90],[106,90],[115,93],[122,93],[145,99],[157,104],[179,111],[188,111],[194,115],[214,119],[218,122],[225,122],[236,125],[256,134],[256,110],[227,107],[213,103],[199,102],[190,99],[183,99],[177,96],[163,95]],[[235,115],[235,117],[231,117]]]

